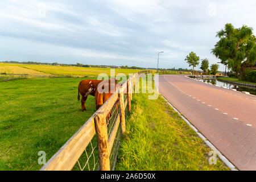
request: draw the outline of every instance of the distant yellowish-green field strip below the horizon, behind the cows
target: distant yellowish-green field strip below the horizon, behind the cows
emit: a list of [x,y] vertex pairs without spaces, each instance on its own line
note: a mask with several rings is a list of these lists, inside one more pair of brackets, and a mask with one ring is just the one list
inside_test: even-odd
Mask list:
[[[136,73],[140,69],[114,69],[118,73]],[[98,76],[100,73],[110,75],[110,68],[85,68],[85,67],[63,67],[53,65],[30,65],[30,64],[1,64],[0,73],[7,74],[28,74],[28,75],[55,75],[55,76]]]

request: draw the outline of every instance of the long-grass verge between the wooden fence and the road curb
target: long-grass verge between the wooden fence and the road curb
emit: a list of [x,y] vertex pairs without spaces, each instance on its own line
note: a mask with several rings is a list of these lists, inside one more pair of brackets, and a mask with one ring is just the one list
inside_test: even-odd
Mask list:
[[229,170],[162,97],[135,94],[116,170]]

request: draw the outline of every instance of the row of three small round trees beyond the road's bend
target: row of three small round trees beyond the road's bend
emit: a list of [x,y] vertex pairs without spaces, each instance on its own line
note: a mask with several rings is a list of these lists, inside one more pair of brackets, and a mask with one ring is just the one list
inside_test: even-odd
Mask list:
[[[185,61],[189,64],[189,67],[193,67],[193,72],[195,72],[195,67],[200,64],[200,57],[196,55],[195,52],[189,53],[189,55],[186,56]],[[216,75],[218,71],[218,64],[212,64],[210,65],[209,69],[209,60],[207,58],[203,59],[201,62],[200,69],[203,70],[208,75],[212,73],[213,75]]]

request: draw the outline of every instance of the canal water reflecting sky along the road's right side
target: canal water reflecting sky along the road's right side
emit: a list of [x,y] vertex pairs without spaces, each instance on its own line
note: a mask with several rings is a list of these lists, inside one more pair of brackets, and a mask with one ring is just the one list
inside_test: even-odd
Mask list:
[[216,78],[206,78],[206,79],[205,78],[197,78],[197,77],[194,77],[194,78],[196,78],[196,80],[199,80],[201,82],[208,82],[213,85],[223,86],[228,89],[236,89],[240,92],[242,92],[242,91],[249,92],[250,94],[253,94],[256,96],[256,88],[246,88],[245,86],[230,84],[227,82],[217,80]]

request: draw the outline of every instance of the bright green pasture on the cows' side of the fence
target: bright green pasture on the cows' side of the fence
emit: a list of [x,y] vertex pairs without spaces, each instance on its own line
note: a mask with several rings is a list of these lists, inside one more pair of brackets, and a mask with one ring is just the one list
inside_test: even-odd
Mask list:
[[96,111],[94,97],[81,111],[77,86],[83,78],[0,82],[0,170],[38,170]]

